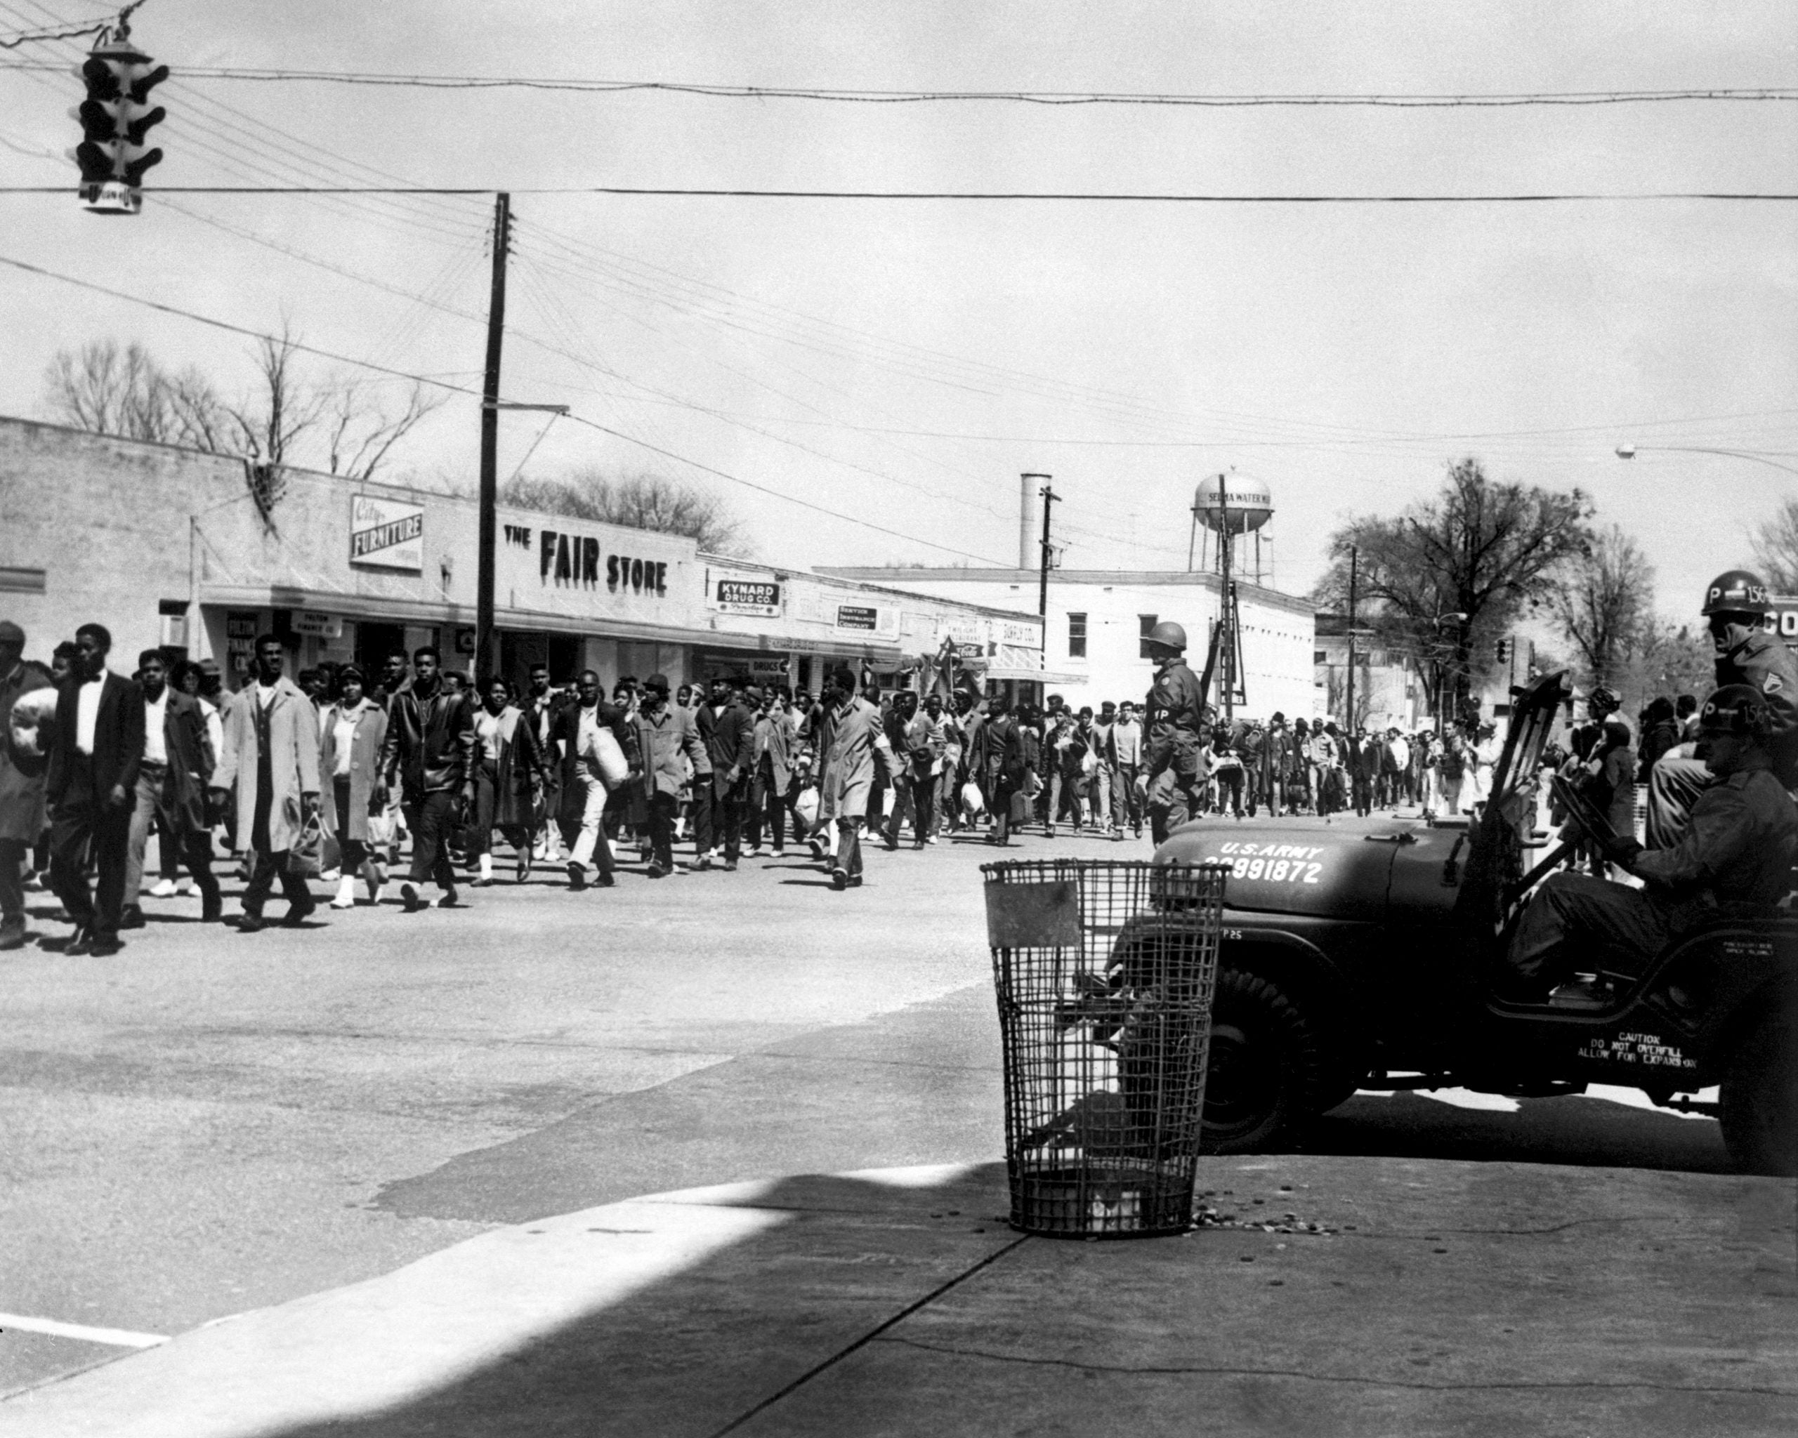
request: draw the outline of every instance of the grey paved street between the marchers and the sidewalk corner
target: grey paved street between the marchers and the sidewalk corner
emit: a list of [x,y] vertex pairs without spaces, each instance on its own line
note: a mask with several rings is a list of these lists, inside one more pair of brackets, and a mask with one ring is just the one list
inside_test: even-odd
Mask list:
[[[1048,852],[1147,843],[1012,850]],[[9,954],[0,1312],[171,1336],[644,1194],[991,1163],[991,857],[876,852],[850,893],[795,857],[581,895],[545,875],[255,936],[149,901],[119,958]],[[1361,1095],[1305,1147],[1314,1186],[1332,1156],[1386,1156],[1424,1195],[1482,1161],[1507,1194],[1528,1165],[1598,1190],[1609,1167],[1726,1168],[1713,1123],[1604,1096]],[[1692,1222],[1731,1203],[1706,1183],[1672,1199]],[[128,1352],[7,1330],[0,1388]]]

